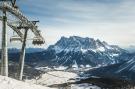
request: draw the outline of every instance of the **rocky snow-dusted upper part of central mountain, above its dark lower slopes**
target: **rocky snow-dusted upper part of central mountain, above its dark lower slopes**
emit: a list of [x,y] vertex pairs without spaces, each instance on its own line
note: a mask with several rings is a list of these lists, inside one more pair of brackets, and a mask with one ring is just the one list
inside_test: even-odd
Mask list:
[[112,56],[117,56],[117,53],[123,51],[118,46],[109,45],[105,41],[101,42],[99,39],[95,40],[93,38],[82,38],[78,36],[71,36],[69,38],[61,37],[61,39],[55,44],[49,46],[48,49],[54,49],[56,53],[64,52],[78,52],[81,51],[85,53],[87,51],[93,52],[115,52]]

